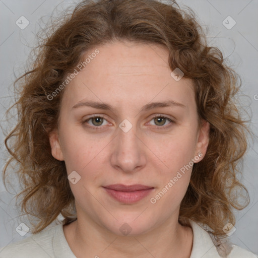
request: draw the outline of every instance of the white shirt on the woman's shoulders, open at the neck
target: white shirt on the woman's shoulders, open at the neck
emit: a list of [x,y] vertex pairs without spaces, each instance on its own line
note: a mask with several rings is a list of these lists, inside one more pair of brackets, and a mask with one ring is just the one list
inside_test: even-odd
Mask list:
[[[193,244],[190,258],[257,258],[230,242],[217,242],[199,224],[190,220]],[[100,255],[101,256],[101,255]],[[0,258],[76,258],[63,233],[62,224],[47,227],[21,241],[0,248]]]

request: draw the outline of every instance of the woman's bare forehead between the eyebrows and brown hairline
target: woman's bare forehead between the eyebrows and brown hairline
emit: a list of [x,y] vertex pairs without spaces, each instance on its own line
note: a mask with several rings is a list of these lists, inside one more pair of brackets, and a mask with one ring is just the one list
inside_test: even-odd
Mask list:
[[[96,49],[99,53],[92,55]],[[171,77],[168,55],[164,46],[148,43],[117,41],[93,48],[85,53],[90,61],[67,86],[63,99],[70,107],[84,98],[132,105],[171,97],[194,104],[192,81]]]

